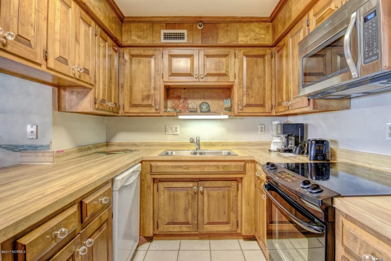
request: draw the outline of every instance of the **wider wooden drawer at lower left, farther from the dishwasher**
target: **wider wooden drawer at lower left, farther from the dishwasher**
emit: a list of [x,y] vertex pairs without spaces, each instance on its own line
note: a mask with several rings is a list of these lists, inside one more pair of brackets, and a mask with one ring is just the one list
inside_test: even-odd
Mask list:
[[[16,240],[16,248],[20,253],[17,260],[38,260],[50,250],[58,249],[65,240],[73,238],[79,225],[78,205],[75,204],[59,215],[43,223],[27,235]],[[57,234],[61,229],[66,229]],[[62,239],[59,237],[63,237]]]

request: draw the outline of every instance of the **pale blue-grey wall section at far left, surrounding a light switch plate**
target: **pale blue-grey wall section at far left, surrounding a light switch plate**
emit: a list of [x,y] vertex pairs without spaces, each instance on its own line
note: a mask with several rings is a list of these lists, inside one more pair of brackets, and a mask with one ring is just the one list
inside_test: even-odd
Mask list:
[[[0,73],[0,147],[11,145],[0,148],[0,167],[19,163],[12,150],[50,148],[51,109],[52,87]],[[38,139],[27,139],[27,125],[38,125]]]

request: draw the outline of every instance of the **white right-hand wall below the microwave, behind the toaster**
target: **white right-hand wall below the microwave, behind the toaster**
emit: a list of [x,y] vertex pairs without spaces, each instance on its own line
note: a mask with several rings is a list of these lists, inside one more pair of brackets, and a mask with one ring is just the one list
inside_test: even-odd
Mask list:
[[391,122],[391,92],[351,99],[351,109],[290,116],[289,121],[308,124],[309,138],[325,138],[348,150],[391,155],[386,123]]

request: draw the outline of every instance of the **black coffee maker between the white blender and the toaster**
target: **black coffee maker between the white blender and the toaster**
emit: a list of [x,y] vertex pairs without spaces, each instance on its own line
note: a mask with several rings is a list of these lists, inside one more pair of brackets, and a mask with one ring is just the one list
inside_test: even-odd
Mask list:
[[277,128],[282,136],[282,146],[279,152],[290,152],[301,154],[304,151],[304,124],[303,123],[281,123]]

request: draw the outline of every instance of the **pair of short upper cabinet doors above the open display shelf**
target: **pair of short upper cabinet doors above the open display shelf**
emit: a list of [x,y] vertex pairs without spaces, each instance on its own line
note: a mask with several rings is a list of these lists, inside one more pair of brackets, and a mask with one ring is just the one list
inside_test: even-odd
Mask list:
[[164,82],[233,82],[233,49],[165,49]]

